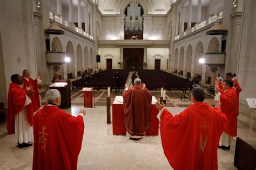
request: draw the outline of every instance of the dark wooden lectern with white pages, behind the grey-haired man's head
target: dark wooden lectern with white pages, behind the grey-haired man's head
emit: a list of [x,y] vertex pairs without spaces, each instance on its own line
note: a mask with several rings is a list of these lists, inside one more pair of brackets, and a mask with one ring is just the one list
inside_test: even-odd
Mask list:
[[71,108],[71,91],[70,80],[55,80],[49,86],[50,89],[57,89],[62,95],[62,103],[60,103],[60,109]]

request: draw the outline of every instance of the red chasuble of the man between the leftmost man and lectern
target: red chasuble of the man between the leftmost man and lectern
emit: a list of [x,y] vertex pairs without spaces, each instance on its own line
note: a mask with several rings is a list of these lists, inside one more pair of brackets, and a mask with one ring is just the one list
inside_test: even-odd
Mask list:
[[30,95],[30,99],[32,101],[33,106],[33,112],[37,111],[40,108],[40,101],[39,101],[39,89],[37,84],[37,79],[33,80],[29,77],[29,81],[26,81],[25,77],[22,75],[22,81],[23,81],[23,89],[26,90],[26,87],[33,87],[33,90],[35,91],[34,94]]

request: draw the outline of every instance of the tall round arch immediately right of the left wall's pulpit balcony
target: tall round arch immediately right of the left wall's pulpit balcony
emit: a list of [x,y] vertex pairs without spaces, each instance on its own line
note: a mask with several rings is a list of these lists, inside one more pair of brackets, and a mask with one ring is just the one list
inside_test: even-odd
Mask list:
[[70,58],[70,62],[66,63],[67,73],[72,73],[72,77],[75,77],[74,47],[71,41],[66,44],[66,56]]

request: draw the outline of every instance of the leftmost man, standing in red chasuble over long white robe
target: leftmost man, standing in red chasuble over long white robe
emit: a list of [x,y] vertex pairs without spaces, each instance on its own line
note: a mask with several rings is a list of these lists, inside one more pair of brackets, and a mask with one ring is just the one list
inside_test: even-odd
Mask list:
[[25,91],[21,88],[22,78],[18,74],[12,75],[11,81],[8,91],[8,134],[15,134],[19,148],[28,147],[33,139],[33,109],[28,97],[32,94],[31,89],[28,87]]

